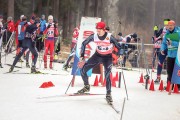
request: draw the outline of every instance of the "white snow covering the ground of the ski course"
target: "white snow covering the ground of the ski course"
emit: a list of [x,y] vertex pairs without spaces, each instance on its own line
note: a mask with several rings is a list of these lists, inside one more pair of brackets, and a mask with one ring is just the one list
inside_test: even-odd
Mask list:
[[[6,57],[6,63],[12,64],[12,54]],[[30,69],[22,68],[14,73],[8,73],[9,66],[2,58],[3,69],[0,69],[0,120],[120,120],[123,100],[126,97],[124,83],[121,88],[112,88],[115,107],[120,110],[117,114],[105,101],[105,95],[99,96],[63,96],[72,76],[70,72],[62,71],[62,64],[55,63],[55,70],[43,70],[51,74],[24,74]],[[37,67],[40,67],[37,62]],[[43,65],[43,64],[42,64]],[[41,67],[42,67],[41,65]],[[17,66],[21,66],[18,63]],[[57,71],[56,71],[57,70]],[[113,68],[113,74],[120,69]],[[123,120],[179,120],[180,95],[168,95],[167,92],[145,90],[139,77],[145,70],[124,70],[128,91],[128,100],[125,102]],[[90,78],[91,85],[95,74]],[[156,73],[153,73],[155,79]],[[163,75],[162,79],[166,80]],[[39,88],[43,82],[52,81],[51,88]],[[83,87],[81,77],[76,77],[75,86],[70,87],[68,93],[74,93]],[[91,93],[105,93],[105,87],[91,87]],[[126,97],[127,98],[127,97]]]

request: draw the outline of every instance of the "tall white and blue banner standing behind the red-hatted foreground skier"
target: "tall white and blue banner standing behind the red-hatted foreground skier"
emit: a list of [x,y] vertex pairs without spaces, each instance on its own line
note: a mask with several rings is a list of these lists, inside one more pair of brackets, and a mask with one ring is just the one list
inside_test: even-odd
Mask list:
[[[91,34],[96,32],[96,23],[100,22],[101,18],[97,17],[82,17],[80,24],[80,31],[76,46],[76,54],[74,57],[74,64],[72,68],[71,75],[80,75],[80,69],[78,69],[77,64],[80,58],[81,44],[82,42],[89,37]],[[77,71],[78,70],[78,71]],[[92,69],[88,71],[88,76],[91,76]]]

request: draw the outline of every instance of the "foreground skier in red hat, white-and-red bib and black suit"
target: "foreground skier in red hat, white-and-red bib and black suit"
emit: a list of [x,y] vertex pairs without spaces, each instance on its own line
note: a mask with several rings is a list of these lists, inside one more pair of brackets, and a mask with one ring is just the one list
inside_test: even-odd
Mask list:
[[[96,25],[97,33],[92,34],[86,40],[83,41],[81,47],[81,60],[78,63],[78,67],[81,69],[81,76],[84,81],[84,87],[78,91],[79,94],[89,92],[90,85],[88,81],[87,71],[95,67],[97,64],[103,64],[105,69],[105,79],[106,79],[106,100],[108,103],[112,103],[111,96],[111,80],[110,73],[112,69],[112,51],[113,45],[120,50],[116,39],[110,34],[105,32],[106,24],[104,22],[98,22]],[[96,52],[94,55],[85,61],[85,47],[88,43],[96,43]]]

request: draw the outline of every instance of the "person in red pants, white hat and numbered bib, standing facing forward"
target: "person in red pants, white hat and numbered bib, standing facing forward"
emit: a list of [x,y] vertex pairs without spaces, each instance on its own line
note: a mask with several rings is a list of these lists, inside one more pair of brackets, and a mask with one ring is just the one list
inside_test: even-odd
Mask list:
[[49,68],[52,69],[52,62],[54,59],[54,37],[58,35],[57,26],[53,22],[53,16],[48,16],[48,23],[46,24],[46,29],[43,34],[46,36],[45,39],[45,53],[44,53],[44,68],[47,68],[47,54],[50,50],[50,64]]

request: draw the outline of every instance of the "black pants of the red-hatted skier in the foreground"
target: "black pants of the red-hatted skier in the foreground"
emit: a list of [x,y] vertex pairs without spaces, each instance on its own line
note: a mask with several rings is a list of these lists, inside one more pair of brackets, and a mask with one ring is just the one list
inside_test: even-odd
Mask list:
[[112,55],[100,56],[97,53],[95,53],[84,64],[83,68],[81,69],[81,76],[84,81],[84,85],[89,85],[87,71],[95,67],[97,64],[101,64],[101,63],[103,64],[104,69],[105,69],[106,90],[107,90],[107,93],[110,93],[111,92],[110,73],[112,69]]

